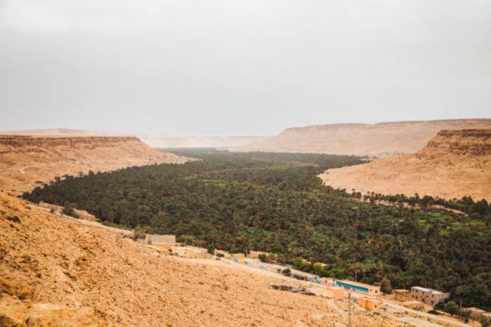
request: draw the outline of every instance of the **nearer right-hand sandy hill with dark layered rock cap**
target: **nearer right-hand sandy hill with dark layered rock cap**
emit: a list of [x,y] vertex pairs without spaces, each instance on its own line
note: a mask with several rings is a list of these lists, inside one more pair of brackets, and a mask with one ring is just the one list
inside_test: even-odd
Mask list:
[[320,177],[335,188],[363,193],[490,201],[491,127],[441,130],[413,154],[330,169]]

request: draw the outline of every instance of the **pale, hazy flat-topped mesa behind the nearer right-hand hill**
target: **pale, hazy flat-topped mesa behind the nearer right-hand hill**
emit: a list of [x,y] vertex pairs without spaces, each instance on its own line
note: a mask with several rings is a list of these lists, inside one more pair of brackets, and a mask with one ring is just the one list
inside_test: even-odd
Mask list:
[[488,126],[491,119],[458,119],[378,124],[329,124],[293,127],[277,136],[232,151],[312,152],[386,157],[408,154],[426,145],[441,129]]

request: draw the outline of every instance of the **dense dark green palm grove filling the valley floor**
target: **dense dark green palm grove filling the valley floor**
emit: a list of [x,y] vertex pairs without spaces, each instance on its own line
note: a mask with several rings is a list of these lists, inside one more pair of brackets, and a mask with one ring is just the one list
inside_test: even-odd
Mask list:
[[363,162],[352,156],[174,152],[202,160],[68,176],[24,197],[75,203],[111,224],[148,226],[186,244],[271,252],[261,259],[321,276],[450,291],[465,306],[491,309],[486,201],[466,216],[377,205],[323,186],[316,175]]

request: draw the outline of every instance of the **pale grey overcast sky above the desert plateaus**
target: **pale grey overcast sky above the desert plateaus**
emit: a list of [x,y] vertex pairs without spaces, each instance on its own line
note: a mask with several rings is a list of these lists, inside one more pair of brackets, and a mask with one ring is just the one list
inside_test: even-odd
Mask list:
[[491,0],[0,0],[0,130],[490,113]]

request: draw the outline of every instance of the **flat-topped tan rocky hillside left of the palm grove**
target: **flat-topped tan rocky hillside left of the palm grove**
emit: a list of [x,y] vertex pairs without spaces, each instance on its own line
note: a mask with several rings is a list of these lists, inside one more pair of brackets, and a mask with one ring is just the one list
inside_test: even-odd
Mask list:
[[0,135],[0,188],[18,194],[55,176],[187,160],[136,137]]

